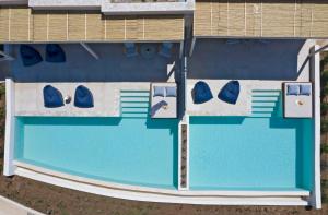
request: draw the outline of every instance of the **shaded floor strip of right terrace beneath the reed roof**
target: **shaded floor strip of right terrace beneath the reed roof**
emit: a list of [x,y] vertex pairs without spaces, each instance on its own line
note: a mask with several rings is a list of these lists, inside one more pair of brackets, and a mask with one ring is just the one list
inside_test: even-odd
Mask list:
[[308,80],[305,40],[197,39],[188,79]]

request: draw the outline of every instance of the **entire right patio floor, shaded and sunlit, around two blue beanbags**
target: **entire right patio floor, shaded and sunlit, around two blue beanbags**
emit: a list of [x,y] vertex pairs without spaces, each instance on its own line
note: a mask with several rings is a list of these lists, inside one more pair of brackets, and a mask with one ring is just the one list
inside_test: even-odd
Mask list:
[[[190,116],[250,116],[251,91],[282,91],[284,82],[309,82],[307,56],[314,45],[315,40],[269,44],[242,40],[236,45],[226,44],[224,39],[198,41],[189,63],[186,112]],[[243,60],[234,62],[233,59]],[[218,99],[220,89],[230,80],[241,83],[235,105]],[[210,101],[200,105],[194,104],[191,94],[198,81],[208,83],[213,94]]]

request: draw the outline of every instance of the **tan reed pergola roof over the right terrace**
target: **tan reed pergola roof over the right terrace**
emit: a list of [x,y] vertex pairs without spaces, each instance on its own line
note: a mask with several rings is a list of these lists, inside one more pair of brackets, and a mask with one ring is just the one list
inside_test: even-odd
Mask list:
[[328,0],[197,0],[198,37],[327,37]]

